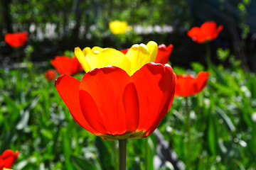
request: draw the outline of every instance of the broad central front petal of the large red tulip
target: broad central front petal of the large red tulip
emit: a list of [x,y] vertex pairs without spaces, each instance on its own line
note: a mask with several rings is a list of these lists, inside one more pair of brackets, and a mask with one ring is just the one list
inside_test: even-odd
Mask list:
[[92,128],[104,135],[137,130],[138,103],[131,77],[118,67],[92,69],[81,81],[82,113]]

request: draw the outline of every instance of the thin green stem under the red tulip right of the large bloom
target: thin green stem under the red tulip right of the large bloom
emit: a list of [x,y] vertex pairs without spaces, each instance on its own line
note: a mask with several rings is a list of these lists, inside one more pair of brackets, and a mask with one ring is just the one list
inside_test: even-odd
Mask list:
[[188,143],[187,143],[187,160],[186,160],[186,169],[190,167],[190,158],[191,158],[191,147],[190,147],[190,141],[191,141],[191,133],[190,133],[190,111],[188,109],[188,97],[186,97],[186,125],[187,125],[187,135],[188,135]]

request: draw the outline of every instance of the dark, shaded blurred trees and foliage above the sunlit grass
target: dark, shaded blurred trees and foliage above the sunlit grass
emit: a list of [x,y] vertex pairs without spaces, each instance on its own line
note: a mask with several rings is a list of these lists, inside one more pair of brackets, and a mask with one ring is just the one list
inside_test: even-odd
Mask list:
[[[154,40],[173,44],[171,63],[189,67],[191,62],[205,61],[205,47],[188,38],[187,30],[215,21],[224,30],[210,42],[210,47],[229,48],[230,54],[242,62],[242,68],[255,72],[255,8],[255,0],[1,0],[0,57],[1,61],[11,60],[12,49],[4,42],[6,33],[28,31],[34,62],[46,61],[78,46],[122,50]],[[133,30],[112,35],[108,24],[114,20],[127,21]],[[213,62],[220,62],[215,54]]]

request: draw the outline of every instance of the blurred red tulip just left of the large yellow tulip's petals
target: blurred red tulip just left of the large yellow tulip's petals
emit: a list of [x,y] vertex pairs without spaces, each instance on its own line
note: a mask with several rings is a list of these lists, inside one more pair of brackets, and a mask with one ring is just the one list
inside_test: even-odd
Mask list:
[[60,74],[75,75],[82,72],[82,66],[76,57],[56,56],[50,63]]

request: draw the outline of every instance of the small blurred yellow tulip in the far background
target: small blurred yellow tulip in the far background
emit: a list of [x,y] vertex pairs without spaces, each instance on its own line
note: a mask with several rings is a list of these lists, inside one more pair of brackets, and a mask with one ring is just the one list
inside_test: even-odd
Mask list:
[[109,23],[110,30],[113,34],[124,34],[127,30],[132,30],[126,21],[112,21]]

